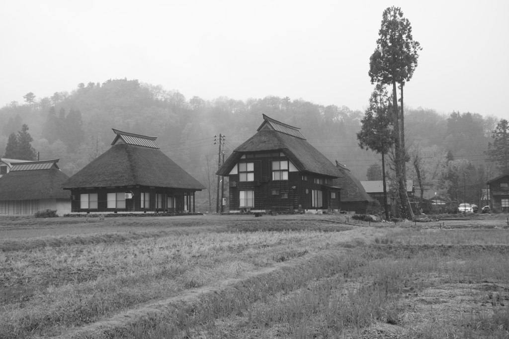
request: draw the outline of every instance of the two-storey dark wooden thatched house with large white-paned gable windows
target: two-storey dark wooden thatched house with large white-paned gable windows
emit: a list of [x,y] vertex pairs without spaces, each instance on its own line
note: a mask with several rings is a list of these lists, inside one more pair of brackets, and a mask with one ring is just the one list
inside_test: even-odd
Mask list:
[[341,174],[293,127],[263,115],[258,132],[237,147],[217,175],[230,178],[230,212],[340,209]]

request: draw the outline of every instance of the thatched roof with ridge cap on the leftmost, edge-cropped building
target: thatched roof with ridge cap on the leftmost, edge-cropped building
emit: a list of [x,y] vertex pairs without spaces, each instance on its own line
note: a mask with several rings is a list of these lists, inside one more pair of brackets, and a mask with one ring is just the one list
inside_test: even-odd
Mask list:
[[0,200],[70,199],[71,193],[62,189],[62,184],[69,177],[59,170],[56,162],[58,159],[25,161],[23,164],[34,165],[31,168],[44,169],[19,166],[16,171],[11,170],[2,176]]

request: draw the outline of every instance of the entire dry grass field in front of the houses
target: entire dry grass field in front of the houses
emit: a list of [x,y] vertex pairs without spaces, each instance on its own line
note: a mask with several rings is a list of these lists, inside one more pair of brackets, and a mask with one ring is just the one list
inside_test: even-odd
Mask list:
[[509,338],[506,217],[0,217],[0,338]]

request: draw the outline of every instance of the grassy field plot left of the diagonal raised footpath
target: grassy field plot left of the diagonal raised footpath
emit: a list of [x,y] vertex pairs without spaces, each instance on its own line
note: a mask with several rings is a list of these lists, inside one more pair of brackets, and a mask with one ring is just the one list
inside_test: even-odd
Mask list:
[[[346,230],[316,221],[305,224],[227,222],[219,229],[176,227],[157,230],[150,238],[119,236],[121,240],[108,242],[59,242],[56,247],[0,252],[4,289],[21,285],[38,291],[4,302],[0,337],[54,335],[147,302],[245,278],[322,252],[342,240],[343,233],[333,230]],[[296,231],[289,231],[292,228]],[[45,238],[46,245],[50,239]]]

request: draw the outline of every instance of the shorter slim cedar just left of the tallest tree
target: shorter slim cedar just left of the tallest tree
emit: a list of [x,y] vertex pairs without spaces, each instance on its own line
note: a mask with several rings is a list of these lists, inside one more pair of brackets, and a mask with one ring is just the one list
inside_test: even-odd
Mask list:
[[370,106],[366,109],[364,118],[361,120],[362,127],[357,133],[361,149],[372,149],[376,153],[382,154],[383,201],[386,220],[389,219],[389,208],[387,205],[385,154],[389,152],[394,144],[394,130],[391,128],[390,101],[385,86],[377,83],[375,90],[371,94]]

